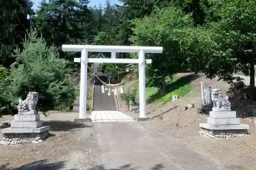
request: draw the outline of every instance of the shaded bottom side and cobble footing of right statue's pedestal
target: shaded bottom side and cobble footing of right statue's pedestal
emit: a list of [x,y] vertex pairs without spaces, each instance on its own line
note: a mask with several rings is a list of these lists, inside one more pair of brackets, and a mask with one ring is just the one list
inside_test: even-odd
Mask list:
[[231,137],[243,137],[249,134],[247,129],[240,130],[210,130],[201,128],[199,131],[200,135],[209,138],[231,138]]

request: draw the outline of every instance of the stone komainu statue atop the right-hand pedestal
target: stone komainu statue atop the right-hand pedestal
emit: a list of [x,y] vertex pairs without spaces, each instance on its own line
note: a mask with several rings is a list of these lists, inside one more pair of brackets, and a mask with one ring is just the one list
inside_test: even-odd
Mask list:
[[211,90],[211,100],[215,109],[230,110],[230,102],[228,101],[228,96],[221,92],[221,89]]

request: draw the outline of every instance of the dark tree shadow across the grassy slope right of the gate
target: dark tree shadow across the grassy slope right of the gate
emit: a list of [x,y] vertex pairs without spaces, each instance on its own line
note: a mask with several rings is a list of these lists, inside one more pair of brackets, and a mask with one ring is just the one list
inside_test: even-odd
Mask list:
[[[179,89],[180,87],[182,87],[186,84],[190,84],[191,81],[194,81],[194,80],[198,79],[199,77],[200,77],[199,75],[190,74],[190,75],[183,76],[172,83],[167,84],[166,94],[169,92],[172,92],[176,89]],[[162,97],[162,95],[161,95],[161,92],[159,91],[156,94],[150,96],[150,98],[147,100],[147,104],[151,104],[151,103],[159,100],[161,97]]]

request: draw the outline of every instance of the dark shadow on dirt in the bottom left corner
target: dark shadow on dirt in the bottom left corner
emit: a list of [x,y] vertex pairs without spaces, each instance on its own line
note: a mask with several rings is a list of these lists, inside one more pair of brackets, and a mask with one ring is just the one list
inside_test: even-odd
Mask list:
[[[55,163],[48,163],[46,159],[34,161],[32,163],[13,168],[8,167],[9,164],[0,165],[1,170],[52,170],[52,169],[61,169],[65,167],[65,161],[59,161]],[[69,169],[75,170],[75,169]]]

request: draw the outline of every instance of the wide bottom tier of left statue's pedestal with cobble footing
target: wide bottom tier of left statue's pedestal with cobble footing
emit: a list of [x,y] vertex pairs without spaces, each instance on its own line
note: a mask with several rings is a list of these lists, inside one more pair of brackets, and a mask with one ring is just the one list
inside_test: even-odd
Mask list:
[[5,128],[1,130],[3,140],[0,141],[0,144],[38,143],[49,136],[49,129],[49,126],[40,128]]

